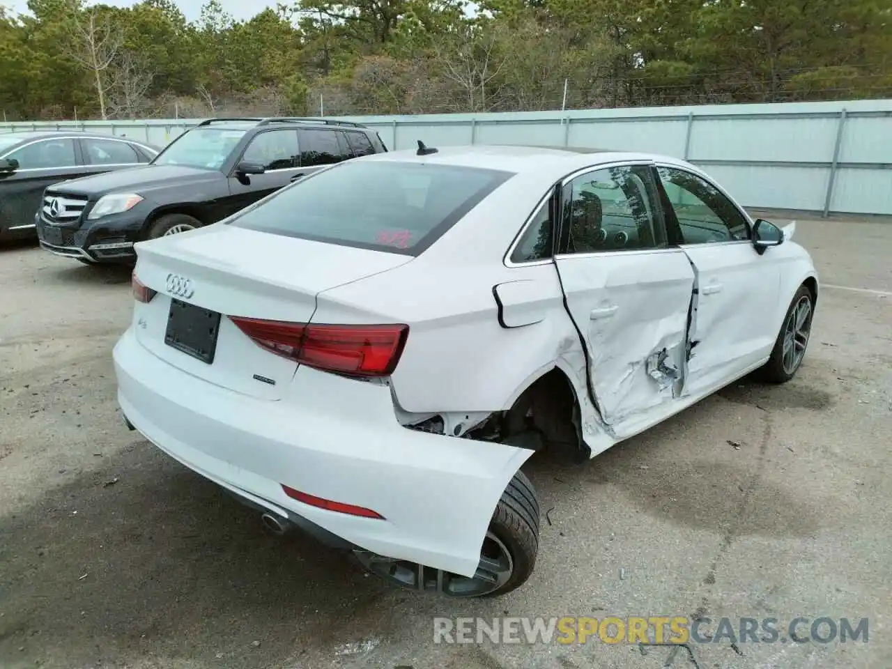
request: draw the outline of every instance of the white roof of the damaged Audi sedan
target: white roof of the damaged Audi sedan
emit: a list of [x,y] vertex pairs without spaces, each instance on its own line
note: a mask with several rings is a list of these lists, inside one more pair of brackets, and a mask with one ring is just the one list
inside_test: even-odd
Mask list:
[[406,161],[454,165],[469,168],[500,169],[516,174],[538,173],[545,175],[552,170],[573,171],[599,163],[615,161],[665,160],[680,162],[654,153],[550,146],[524,145],[467,145],[444,146],[437,153],[419,156],[415,150],[376,153],[357,160]]

